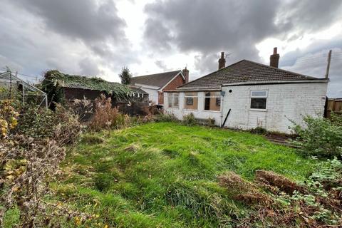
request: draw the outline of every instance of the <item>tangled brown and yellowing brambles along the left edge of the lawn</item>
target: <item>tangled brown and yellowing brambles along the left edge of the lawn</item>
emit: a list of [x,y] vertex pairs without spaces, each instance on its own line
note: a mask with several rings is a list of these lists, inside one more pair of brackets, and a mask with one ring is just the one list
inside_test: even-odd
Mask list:
[[0,138],[0,227],[6,214],[13,212],[19,213],[16,227],[58,227],[63,219],[86,219],[61,202],[46,200],[51,195],[48,184],[64,160],[65,145],[81,133],[78,117],[61,105],[52,111],[31,105],[14,108],[13,103],[0,102],[0,120],[7,128],[6,138]]

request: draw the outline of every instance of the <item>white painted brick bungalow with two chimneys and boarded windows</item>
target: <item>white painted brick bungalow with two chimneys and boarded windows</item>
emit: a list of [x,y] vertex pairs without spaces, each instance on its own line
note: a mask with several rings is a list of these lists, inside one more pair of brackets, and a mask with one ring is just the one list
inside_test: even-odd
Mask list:
[[270,66],[242,60],[225,67],[222,53],[218,71],[165,91],[165,110],[180,120],[193,113],[226,128],[279,133],[292,133],[291,121],[302,123],[304,115],[323,117],[329,79],[285,71],[278,64],[276,48]]

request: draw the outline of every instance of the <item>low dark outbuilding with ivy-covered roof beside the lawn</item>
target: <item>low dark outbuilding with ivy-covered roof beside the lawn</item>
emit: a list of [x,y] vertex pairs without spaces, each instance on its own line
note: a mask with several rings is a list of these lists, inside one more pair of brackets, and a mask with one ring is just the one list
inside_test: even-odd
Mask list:
[[71,104],[75,100],[90,100],[101,94],[112,99],[112,105],[123,113],[144,115],[148,103],[148,94],[140,88],[113,83],[102,78],[74,76],[59,71],[47,71],[41,88],[48,95],[48,103]]

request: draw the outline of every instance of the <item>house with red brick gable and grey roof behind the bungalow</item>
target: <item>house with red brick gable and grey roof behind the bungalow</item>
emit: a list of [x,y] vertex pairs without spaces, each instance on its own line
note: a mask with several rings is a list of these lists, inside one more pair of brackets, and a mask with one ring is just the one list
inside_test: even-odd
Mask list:
[[155,105],[164,104],[164,91],[174,90],[189,82],[189,70],[155,73],[147,76],[133,77],[130,84],[148,93],[150,101]]

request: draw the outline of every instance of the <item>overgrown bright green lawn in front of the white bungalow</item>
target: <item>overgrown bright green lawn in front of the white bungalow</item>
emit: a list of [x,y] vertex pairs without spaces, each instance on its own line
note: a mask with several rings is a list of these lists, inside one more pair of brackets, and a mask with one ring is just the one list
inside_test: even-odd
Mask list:
[[218,175],[233,171],[253,180],[262,169],[304,180],[314,165],[259,135],[148,123],[83,135],[53,184],[54,200],[92,214],[84,227],[234,226],[251,208],[231,199]]

